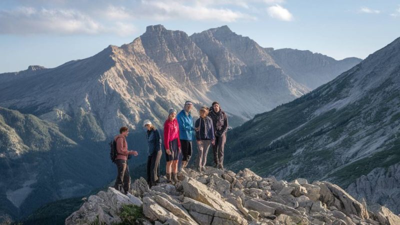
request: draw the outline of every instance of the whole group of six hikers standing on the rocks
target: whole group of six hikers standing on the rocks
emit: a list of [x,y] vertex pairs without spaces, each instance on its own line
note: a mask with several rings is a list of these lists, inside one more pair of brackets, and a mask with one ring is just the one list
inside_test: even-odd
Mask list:
[[[203,171],[207,160],[208,148],[212,146],[214,167],[223,169],[223,150],[226,141],[228,121],[226,113],[221,109],[217,101],[212,102],[211,107],[200,107],[200,117],[194,122],[191,116],[193,103],[186,101],[183,109],[176,113],[170,108],[168,117],[163,127],[163,145],[166,159],[166,179],[170,183],[178,182],[178,168],[184,169],[192,154],[192,141],[197,144],[196,169]],[[161,136],[157,128],[148,119],[144,120],[143,126],[147,129],[146,139],[148,146],[147,157],[147,183],[149,187],[159,182],[159,163],[162,155]],[[119,135],[114,137],[116,142],[116,166],[117,177],[114,188],[128,192],[130,176],[127,165],[129,155],[137,156],[137,151],[127,150],[125,137],[129,129],[123,126]]]

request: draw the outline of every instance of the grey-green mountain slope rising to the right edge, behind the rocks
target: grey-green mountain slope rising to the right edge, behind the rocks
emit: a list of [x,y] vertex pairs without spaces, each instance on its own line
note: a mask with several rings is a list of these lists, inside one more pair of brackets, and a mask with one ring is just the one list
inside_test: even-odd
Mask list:
[[355,182],[349,186],[355,196],[387,203],[398,213],[392,197],[367,185],[389,176],[379,186],[391,196],[399,193],[399,170],[385,169],[400,161],[399,59],[397,38],[334,80],[233,129],[229,167],[285,179],[327,179],[343,188]]

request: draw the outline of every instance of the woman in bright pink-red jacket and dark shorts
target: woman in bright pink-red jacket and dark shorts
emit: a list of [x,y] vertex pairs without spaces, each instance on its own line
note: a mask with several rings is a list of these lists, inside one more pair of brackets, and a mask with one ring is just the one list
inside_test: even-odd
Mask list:
[[176,120],[176,111],[171,108],[168,111],[168,118],[164,122],[164,146],[166,158],[166,178],[168,182],[178,181],[178,155],[180,153],[179,125]]

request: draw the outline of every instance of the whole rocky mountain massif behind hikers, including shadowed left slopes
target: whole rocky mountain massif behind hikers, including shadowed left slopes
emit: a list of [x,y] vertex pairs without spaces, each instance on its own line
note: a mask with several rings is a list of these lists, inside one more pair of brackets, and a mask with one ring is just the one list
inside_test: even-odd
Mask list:
[[[283,64],[286,56],[269,50],[227,26],[188,36],[154,25],[131,43],[85,59],[0,74],[0,166],[7,171],[0,176],[1,209],[14,207],[16,213],[7,213],[24,215],[42,202],[82,195],[112,179],[106,142],[122,125],[132,131],[129,148],[140,153],[134,163],[143,163],[144,119],[160,127],[170,107],[180,109],[189,99],[197,116],[199,106],[218,100],[237,126],[310,91],[298,76],[320,71],[334,77],[351,66],[316,54],[309,69],[293,73],[297,60],[305,60],[298,50],[287,53],[289,65]],[[312,64],[327,58],[337,70]],[[46,168],[50,174],[41,172]],[[101,175],[92,175],[96,171]]]

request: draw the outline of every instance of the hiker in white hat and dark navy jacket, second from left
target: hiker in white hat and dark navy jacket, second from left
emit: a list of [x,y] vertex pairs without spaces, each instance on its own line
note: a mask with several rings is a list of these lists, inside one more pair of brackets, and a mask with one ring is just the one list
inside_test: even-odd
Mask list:
[[148,145],[147,157],[147,183],[148,187],[154,186],[158,182],[159,160],[161,159],[161,136],[151,121],[146,119],[143,123],[147,128],[146,139]]

